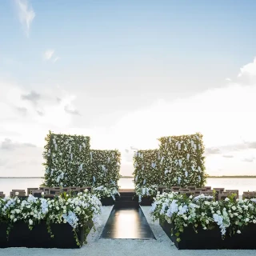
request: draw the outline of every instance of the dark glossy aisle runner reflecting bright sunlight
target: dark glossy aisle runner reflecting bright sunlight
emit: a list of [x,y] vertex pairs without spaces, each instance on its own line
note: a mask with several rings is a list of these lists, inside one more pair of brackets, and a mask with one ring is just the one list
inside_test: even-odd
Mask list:
[[140,207],[113,207],[100,238],[155,239]]

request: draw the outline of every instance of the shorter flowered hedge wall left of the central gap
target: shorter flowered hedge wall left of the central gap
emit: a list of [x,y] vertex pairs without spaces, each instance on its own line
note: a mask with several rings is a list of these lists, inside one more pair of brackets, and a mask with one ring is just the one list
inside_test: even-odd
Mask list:
[[94,186],[118,188],[121,154],[118,150],[90,150]]

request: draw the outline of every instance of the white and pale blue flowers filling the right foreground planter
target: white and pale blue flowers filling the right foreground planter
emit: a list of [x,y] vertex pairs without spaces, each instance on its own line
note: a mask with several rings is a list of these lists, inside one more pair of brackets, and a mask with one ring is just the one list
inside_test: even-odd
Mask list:
[[[225,238],[227,230],[230,235],[240,234],[244,226],[256,224],[256,198],[234,200],[234,197],[230,197],[215,201],[214,197],[204,194],[187,198],[186,195],[175,192],[163,193],[157,195],[150,214],[154,220],[174,223],[175,230],[178,230],[175,234],[178,242],[181,241],[179,234],[189,225],[196,232],[199,226],[204,230],[218,226],[222,238]],[[171,230],[172,233],[173,231]]]

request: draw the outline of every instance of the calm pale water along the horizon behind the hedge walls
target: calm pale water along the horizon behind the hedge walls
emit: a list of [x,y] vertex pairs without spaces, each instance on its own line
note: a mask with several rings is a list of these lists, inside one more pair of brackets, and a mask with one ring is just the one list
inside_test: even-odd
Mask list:
[[[0,178],[0,191],[9,195],[11,190],[26,190],[28,187],[39,187],[41,178]],[[121,178],[118,186],[123,189],[134,188],[132,178]],[[256,178],[208,178],[207,186],[224,187],[226,190],[256,191]]]

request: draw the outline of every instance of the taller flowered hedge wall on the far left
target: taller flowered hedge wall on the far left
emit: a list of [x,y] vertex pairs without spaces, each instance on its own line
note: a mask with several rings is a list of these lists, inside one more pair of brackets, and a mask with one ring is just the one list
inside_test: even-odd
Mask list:
[[90,137],[50,131],[44,148],[45,186],[90,185]]

